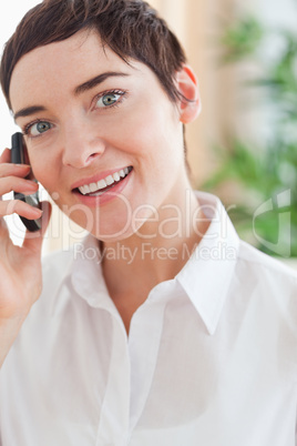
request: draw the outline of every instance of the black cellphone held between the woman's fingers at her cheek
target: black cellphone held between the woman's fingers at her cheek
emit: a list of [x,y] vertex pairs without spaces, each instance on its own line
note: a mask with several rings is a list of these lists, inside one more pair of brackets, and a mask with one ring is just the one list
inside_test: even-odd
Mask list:
[[[23,135],[20,132],[13,133],[11,136],[11,162],[13,164],[25,164],[25,145]],[[27,176],[32,180],[31,175]],[[32,195],[23,195],[22,193],[13,192],[13,197],[16,200],[21,200],[24,203],[30,204],[31,206],[40,209],[39,194],[35,192]],[[38,220],[28,220],[23,216],[20,216],[24,226],[30,232],[39,231],[41,229],[41,219]]]

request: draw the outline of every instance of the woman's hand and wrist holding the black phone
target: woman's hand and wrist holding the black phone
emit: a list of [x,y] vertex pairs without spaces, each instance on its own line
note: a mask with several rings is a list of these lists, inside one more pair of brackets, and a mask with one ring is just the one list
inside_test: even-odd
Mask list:
[[[0,364],[42,288],[41,246],[50,219],[50,203],[42,203],[42,213],[20,200],[2,200],[11,191],[23,194],[37,191],[38,185],[25,180],[29,172],[29,165],[11,164],[10,150],[4,150],[0,156]],[[29,220],[42,215],[42,230],[27,231],[22,246],[12,243],[3,219],[12,213]]]

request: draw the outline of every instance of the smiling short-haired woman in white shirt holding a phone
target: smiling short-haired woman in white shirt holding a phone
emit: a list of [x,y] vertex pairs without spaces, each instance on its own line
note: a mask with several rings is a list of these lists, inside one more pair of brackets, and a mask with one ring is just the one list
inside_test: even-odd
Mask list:
[[[44,1],[1,84],[34,176],[90,232],[41,268],[49,205],[20,249],[1,222],[2,445],[294,446],[296,275],[192,190],[197,82],[165,22],[136,0]],[[29,170],[6,150],[0,194],[35,191]]]

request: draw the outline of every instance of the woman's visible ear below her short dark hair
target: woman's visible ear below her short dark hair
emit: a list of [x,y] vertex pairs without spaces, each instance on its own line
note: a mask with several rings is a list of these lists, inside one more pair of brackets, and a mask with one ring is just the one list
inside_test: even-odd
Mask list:
[[176,87],[185,98],[180,102],[180,120],[184,124],[188,124],[201,112],[198,82],[190,65],[184,64],[182,70],[176,73]]

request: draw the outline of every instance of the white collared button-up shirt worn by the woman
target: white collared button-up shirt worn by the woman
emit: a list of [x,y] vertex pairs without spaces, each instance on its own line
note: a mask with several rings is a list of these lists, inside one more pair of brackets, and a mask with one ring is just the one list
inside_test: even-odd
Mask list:
[[0,374],[2,446],[297,445],[297,276],[197,195],[212,224],[129,337],[91,237],[44,261]]

